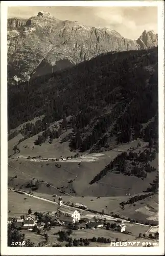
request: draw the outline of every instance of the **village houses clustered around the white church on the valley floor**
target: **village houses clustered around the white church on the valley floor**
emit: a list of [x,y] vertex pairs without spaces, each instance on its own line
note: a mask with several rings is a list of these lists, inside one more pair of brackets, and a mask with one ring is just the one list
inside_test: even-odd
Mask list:
[[[53,195],[57,197],[57,195]],[[80,229],[97,229],[97,228],[105,228],[107,226],[106,220],[97,219],[91,221],[88,218],[81,218],[80,219],[80,212],[76,207],[86,207],[83,204],[75,203],[74,206],[70,207],[68,205],[63,204],[62,197],[60,196],[58,199],[57,211],[51,212],[44,212],[43,214],[35,212],[35,218],[29,214],[26,218],[25,216],[20,216],[20,218],[8,218],[8,224],[12,224],[13,228],[16,229],[27,229],[29,231],[40,231],[42,232],[46,230],[50,230],[51,226],[53,225],[62,225],[62,226],[70,226],[73,229],[80,230]],[[42,216],[40,218],[39,216]],[[49,221],[45,221],[45,218],[49,216]],[[109,223],[108,223],[109,224]],[[111,229],[114,231],[124,232],[126,230],[126,226],[121,221],[119,225],[111,224]],[[38,230],[38,231],[37,231]]]

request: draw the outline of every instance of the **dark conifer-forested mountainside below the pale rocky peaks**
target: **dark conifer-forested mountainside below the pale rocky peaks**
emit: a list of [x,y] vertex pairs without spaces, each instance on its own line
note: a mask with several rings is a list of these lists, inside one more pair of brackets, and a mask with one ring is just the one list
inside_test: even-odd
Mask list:
[[[30,120],[45,117],[36,124]],[[8,85],[8,129],[23,122],[23,135],[44,131],[43,143],[59,132],[49,124],[71,116],[70,150],[100,151],[112,142],[129,142],[138,137],[158,140],[157,48],[111,52],[73,68],[37,77],[18,86]],[[33,129],[31,129],[33,126]],[[9,139],[15,134],[9,134]]]

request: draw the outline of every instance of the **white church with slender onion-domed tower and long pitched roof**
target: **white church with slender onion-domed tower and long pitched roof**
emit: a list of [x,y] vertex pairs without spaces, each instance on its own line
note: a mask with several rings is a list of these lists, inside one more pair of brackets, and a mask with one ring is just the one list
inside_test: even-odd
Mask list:
[[75,223],[80,220],[80,212],[73,207],[63,205],[62,198],[58,200],[59,207],[57,209],[57,218],[60,221]]

